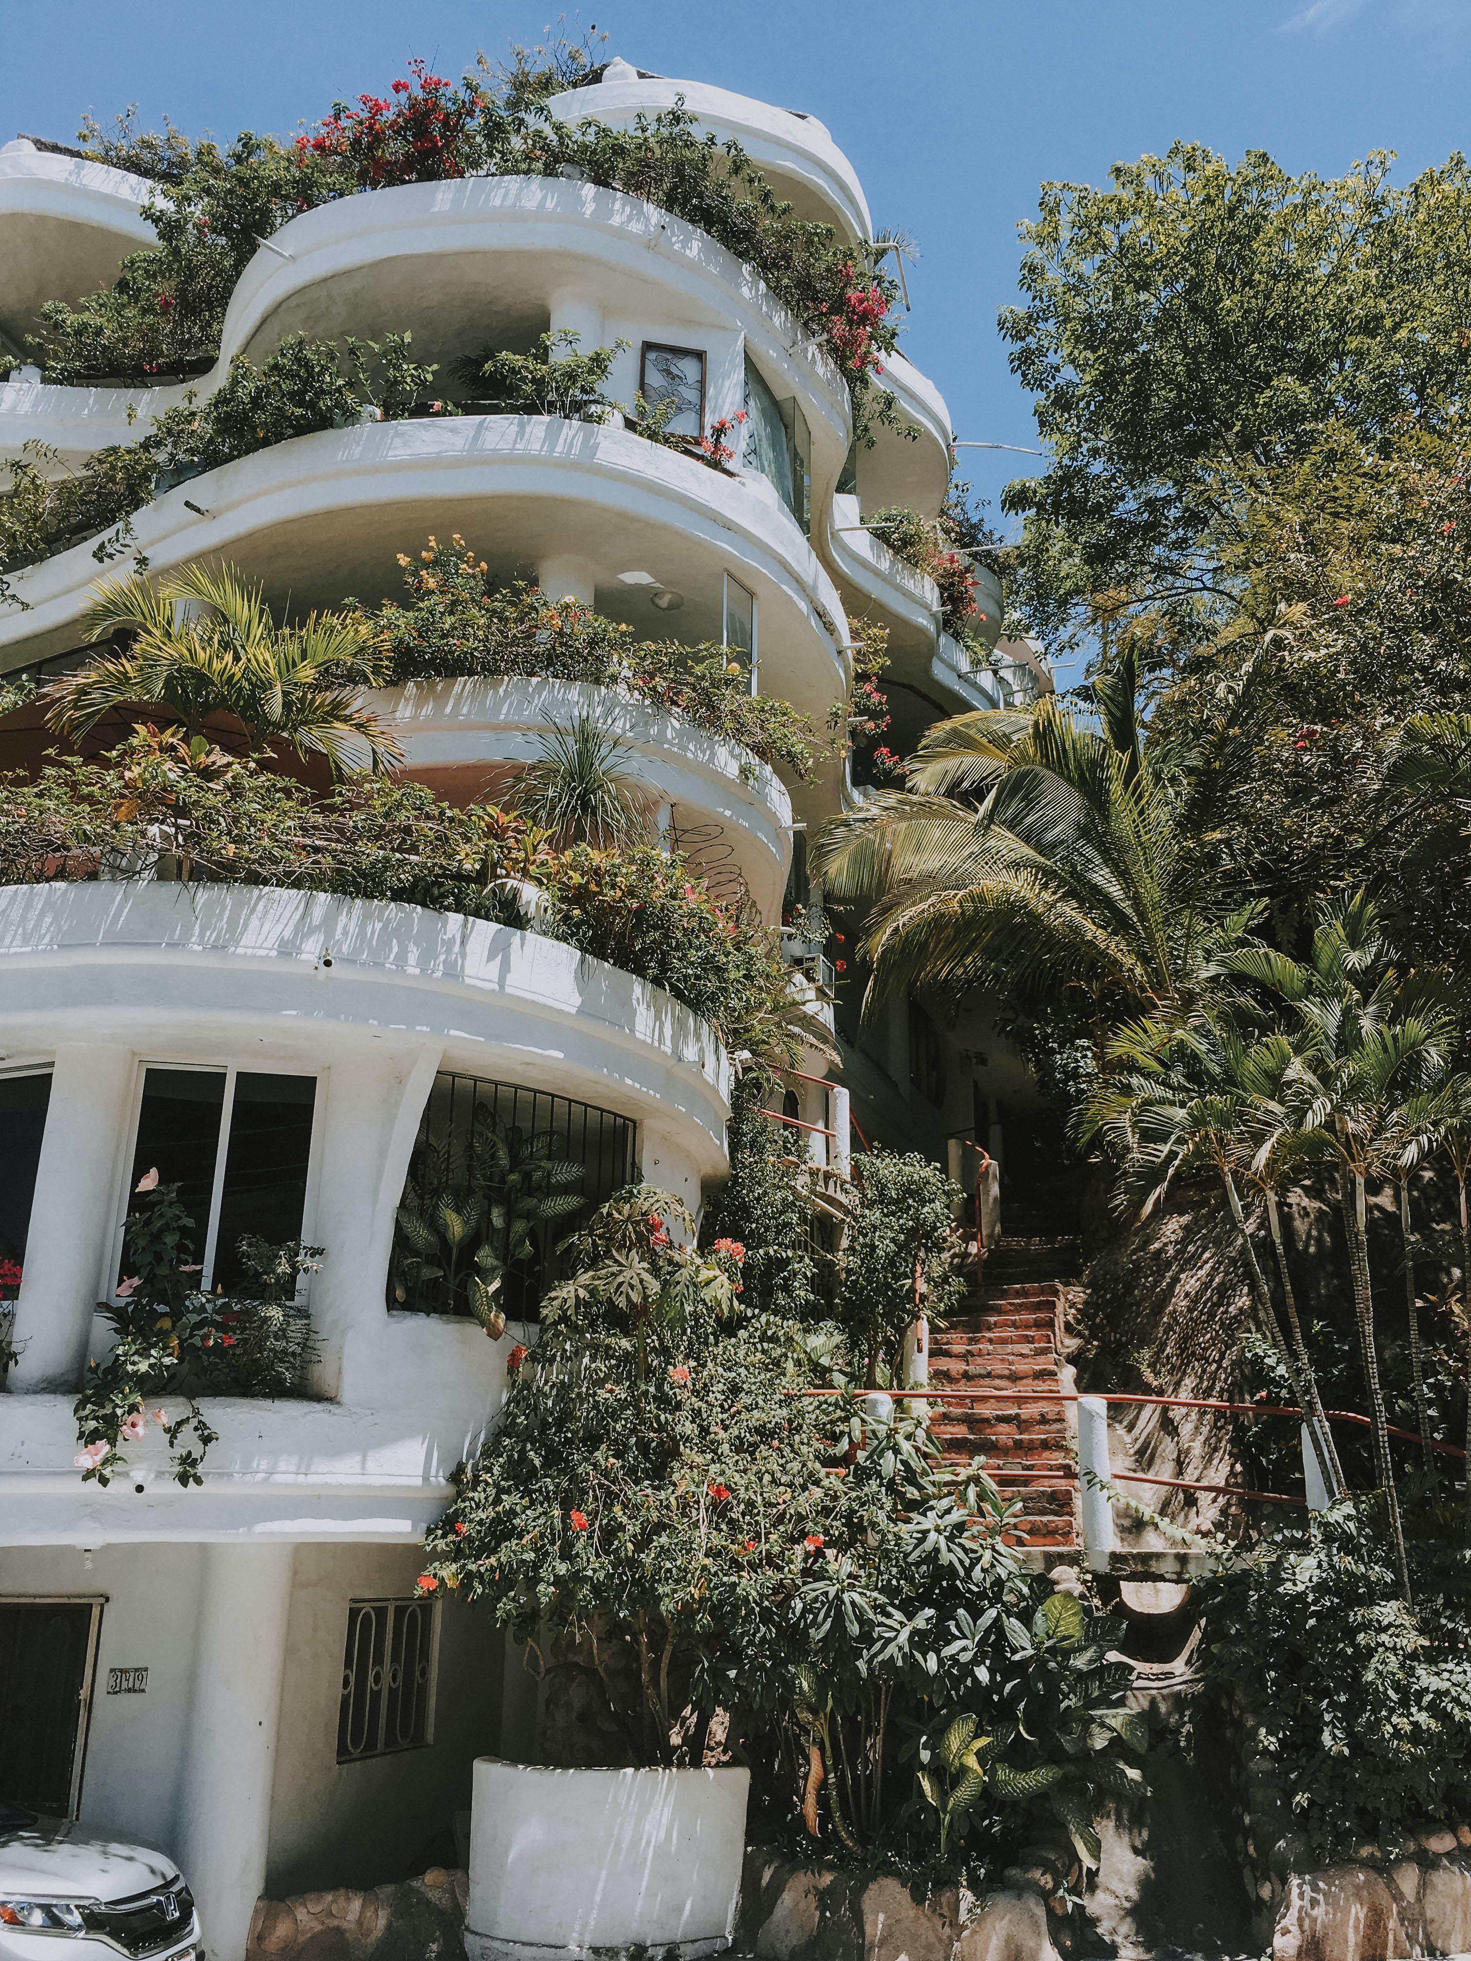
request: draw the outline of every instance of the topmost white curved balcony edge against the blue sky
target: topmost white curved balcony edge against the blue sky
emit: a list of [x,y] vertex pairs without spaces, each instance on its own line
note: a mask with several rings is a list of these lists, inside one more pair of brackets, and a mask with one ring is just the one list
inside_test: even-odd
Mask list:
[[849,243],[873,237],[857,171],[816,116],[779,110],[706,82],[647,75],[628,61],[610,61],[598,82],[551,96],[547,108],[559,122],[596,118],[614,129],[628,129],[635,116],[655,118],[681,100],[698,118],[700,131],[714,129],[722,141],[736,137],[771,188],[790,198],[798,218],[836,226]]

